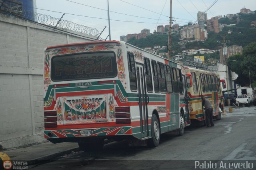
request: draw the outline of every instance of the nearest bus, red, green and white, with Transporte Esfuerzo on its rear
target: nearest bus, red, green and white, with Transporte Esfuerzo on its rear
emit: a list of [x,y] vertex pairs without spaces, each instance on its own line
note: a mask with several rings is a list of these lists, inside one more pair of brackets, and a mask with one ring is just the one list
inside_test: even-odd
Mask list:
[[102,148],[105,139],[156,147],[190,125],[185,69],[122,41],[44,49],[44,137]]

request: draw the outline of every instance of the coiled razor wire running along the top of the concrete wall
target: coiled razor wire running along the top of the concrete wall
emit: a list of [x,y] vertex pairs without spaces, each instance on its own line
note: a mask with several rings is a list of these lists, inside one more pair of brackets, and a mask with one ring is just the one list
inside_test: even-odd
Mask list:
[[67,29],[71,31],[76,31],[78,33],[92,35],[92,36],[100,35],[98,29],[96,28],[77,24],[68,20],[60,20],[58,18],[54,18],[47,14],[40,14],[34,11],[25,10],[24,8],[22,8],[22,3],[16,0],[0,0],[0,5],[1,5],[0,12],[7,12],[9,14],[14,14],[15,16],[19,16],[26,19],[29,18],[29,20],[32,20],[44,25],[48,25],[50,27],[56,26],[56,28]]

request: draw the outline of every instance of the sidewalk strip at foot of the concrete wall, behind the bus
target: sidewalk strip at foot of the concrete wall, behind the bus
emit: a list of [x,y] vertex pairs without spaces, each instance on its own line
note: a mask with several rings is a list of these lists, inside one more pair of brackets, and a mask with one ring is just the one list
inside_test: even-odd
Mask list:
[[16,149],[0,150],[6,153],[11,160],[23,160],[28,164],[36,164],[41,160],[52,160],[58,156],[69,154],[72,151],[78,151],[77,143],[39,143],[29,147]]

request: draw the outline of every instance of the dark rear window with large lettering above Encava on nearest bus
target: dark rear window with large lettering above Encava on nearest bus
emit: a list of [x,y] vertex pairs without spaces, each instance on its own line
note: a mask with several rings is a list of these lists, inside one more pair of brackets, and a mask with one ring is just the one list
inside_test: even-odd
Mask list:
[[52,81],[112,78],[117,75],[113,52],[55,56],[51,64]]

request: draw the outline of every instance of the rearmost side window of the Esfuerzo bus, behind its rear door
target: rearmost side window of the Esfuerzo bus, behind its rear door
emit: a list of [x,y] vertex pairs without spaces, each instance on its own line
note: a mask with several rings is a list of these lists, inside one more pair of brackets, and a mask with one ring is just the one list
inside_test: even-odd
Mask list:
[[137,91],[137,78],[135,71],[135,60],[134,55],[132,53],[128,53],[128,70],[129,70],[129,78],[130,78],[130,88],[132,91]]

